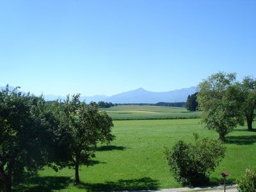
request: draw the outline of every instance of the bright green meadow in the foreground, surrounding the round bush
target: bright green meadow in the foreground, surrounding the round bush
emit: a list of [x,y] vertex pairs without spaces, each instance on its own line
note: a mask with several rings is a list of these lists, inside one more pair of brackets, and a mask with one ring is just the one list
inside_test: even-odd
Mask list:
[[[116,140],[101,146],[92,163],[81,166],[81,184],[74,186],[74,169],[54,172],[45,168],[38,177],[22,184],[17,191],[112,191],[131,189],[163,189],[181,187],[168,170],[164,146],[172,147],[182,139],[193,141],[193,132],[200,137],[218,138],[200,124],[200,119],[182,120],[119,120],[114,121]],[[254,124],[255,127],[256,124]],[[211,175],[211,183],[222,183],[220,173],[230,172],[229,183],[243,175],[256,160],[256,132],[239,127],[227,136],[226,156]]]

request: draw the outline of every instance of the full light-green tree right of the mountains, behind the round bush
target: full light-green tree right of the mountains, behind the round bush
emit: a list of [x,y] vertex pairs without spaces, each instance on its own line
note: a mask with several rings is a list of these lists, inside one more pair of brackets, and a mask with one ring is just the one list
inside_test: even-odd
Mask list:
[[243,94],[236,74],[219,72],[199,84],[198,105],[206,127],[214,129],[225,141],[225,135],[237,124],[243,124]]

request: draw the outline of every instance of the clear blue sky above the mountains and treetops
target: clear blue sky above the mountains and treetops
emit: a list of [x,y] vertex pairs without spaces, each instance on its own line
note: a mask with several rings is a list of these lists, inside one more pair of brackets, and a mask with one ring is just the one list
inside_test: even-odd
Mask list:
[[0,0],[0,86],[92,96],[256,77],[256,1]]

